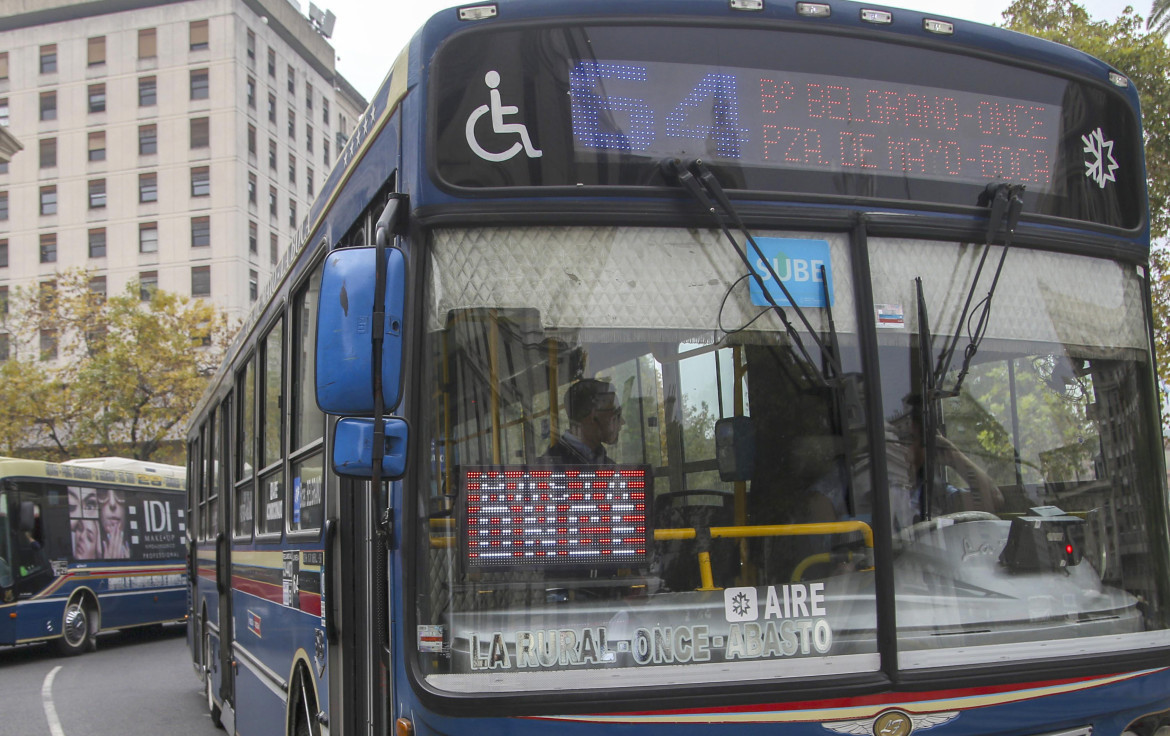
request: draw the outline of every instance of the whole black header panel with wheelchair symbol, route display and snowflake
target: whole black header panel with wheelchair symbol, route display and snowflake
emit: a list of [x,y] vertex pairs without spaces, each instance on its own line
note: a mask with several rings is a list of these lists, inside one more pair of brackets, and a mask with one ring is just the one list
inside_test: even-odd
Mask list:
[[589,207],[684,197],[662,163],[702,159],[732,198],[970,209],[1011,183],[1025,214],[1140,227],[1131,88],[970,51],[703,23],[483,27],[427,68],[428,174],[461,198]]

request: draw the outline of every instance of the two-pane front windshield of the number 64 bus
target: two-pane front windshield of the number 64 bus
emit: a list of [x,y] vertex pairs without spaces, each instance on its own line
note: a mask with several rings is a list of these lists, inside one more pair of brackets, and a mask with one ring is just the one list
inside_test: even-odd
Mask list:
[[711,231],[433,234],[414,597],[432,687],[874,672],[880,535],[903,667],[1165,628],[1133,267],[1013,249],[961,392],[927,399],[927,443],[914,278],[932,363],[978,248],[872,240],[870,308],[846,235],[757,240],[796,305],[770,308]]

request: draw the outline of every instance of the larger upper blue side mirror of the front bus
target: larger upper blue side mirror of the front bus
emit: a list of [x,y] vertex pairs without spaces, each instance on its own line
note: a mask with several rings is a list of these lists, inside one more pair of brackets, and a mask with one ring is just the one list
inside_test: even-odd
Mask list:
[[385,411],[402,395],[406,257],[386,248],[385,321],[374,325],[377,249],[339,248],[325,257],[317,310],[317,406],[326,414],[373,414],[373,330],[381,330]]

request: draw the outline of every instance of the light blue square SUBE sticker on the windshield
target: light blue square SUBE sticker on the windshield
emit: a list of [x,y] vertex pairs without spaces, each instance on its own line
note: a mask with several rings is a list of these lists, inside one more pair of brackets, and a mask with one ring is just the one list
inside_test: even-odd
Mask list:
[[[771,264],[772,270],[784,282],[789,294],[796,301],[797,307],[825,307],[825,287],[828,286],[828,305],[833,305],[833,261],[828,250],[828,242],[824,240],[800,240],[796,238],[757,238],[756,243],[760,253],[764,254]],[[780,307],[791,307],[792,302],[784,296],[784,290],[772,280],[768,273],[768,267],[748,246],[748,256],[751,266],[763,278],[768,287],[768,293]],[[824,280],[821,269],[824,268]],[[757,307],[769,307],[764,297],[764,290],[755,278],[748,280],[751,284],[749,294],[751,303]]]

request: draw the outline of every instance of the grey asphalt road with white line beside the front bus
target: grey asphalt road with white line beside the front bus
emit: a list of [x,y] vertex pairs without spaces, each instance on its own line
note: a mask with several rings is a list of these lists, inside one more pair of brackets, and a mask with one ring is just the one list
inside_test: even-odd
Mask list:
[[0,647],[0,736],[223,736],[207,715],[185,628],[115,632],[97,652]]

